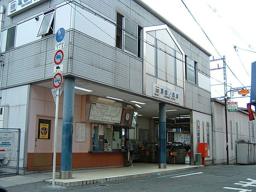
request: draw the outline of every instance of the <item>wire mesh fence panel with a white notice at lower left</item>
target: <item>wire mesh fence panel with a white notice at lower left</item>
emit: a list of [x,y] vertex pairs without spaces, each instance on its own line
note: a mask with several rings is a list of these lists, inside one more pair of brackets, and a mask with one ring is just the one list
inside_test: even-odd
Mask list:
[[0,128],[0,175],[19,174],[21,129]]

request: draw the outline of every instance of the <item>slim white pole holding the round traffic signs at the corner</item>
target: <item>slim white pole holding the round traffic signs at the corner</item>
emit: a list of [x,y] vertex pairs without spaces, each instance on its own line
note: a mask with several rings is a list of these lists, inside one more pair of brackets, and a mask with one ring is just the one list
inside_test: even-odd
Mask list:
[[57,92],[56,92],[56,107],[55,107],[54,141],[53,141],[52,186],[55,185],[56,148],[57,148],[57,132],[58,132],[58,116],[59,116],[59,88],[57,88],[56,90]]

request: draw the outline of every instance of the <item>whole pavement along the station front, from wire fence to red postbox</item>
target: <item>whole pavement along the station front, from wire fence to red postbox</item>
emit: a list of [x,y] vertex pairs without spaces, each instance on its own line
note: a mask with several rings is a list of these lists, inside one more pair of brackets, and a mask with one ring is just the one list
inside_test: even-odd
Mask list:
[[[105,183],[109,181],[125,180],[131,178],[140,178],[157,174],[188,171],[198,168],[204,168],[204,166],[167,164],[166,169],[159,169],[158,164],[134,163],[133,167],[94,168],[86,170],[76,170],[73,171],[73,178],[66,180],[59,179],[59,171],[57,171],[55,184],[64,187],[73,187],[78,185],[88,185],[95,183]],[[9,177],[6,176],[0,178],[0,186],[11,187],[28,183],[36,183],[38,181],[43,180],[52,183],[52,172],[35,173],[29,175],[17,175]]]

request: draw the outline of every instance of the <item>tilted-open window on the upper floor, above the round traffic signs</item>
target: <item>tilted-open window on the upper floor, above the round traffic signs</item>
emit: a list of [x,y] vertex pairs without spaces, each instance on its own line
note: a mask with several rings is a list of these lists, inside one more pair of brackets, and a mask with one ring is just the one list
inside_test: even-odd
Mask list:
[[48,36],[53,34],[54,13],[55,13],[54,10],[51,10],[44,14],[37,36],[43,36],[43,35]]

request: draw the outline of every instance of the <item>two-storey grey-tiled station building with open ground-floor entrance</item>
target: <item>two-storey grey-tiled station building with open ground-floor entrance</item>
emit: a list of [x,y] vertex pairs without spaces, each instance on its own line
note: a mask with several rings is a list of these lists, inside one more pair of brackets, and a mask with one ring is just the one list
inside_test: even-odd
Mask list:
[[213,163],[211,54],[172,21],[141,0],[1,6],[2,127],[21,128],[21,172],[52,169],[57,72],[57,169],[66,145],[72,169],[123,166],[125,138],[137,149],[135,160],[158,163],[163,114],[167,163],[185,163],[190,152],[194,164],[200,142],[208,144],[206,164]]

